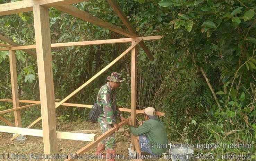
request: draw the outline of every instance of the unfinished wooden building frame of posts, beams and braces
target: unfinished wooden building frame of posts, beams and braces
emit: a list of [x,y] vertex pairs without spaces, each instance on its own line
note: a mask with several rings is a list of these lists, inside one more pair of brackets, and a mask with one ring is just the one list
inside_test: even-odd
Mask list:
[[[131,51],[131,108],[119,108],[121,111],[126,111],[131,113],[132,124],[136,125],[136,115],[139,113],[144,113],[143,110],[136,110],[136,89],[137,89],[137,45],[139,44],[147,56],[153,60],[153,56],[147,49],[143,41],[151,41],[160,39],[161,36],[146,36],[140,37],[136,33],[133,26],[130,25],[127,16],[122,12],[121,8],[118,6],[115,0],[107,0],[110,6],[116,11],[119,18],[123,21],[128,30],[117,27],[113,24],[105,22],[95,16],[89,15],[88,13],[72,6],[72,3],[79,3],[88,0],[22,0],[17,2],[4,3],[0,5],[0,16],[17,14],[20,12],[33,11],[34,14],[34,24],[35,24],[35,45],[20,46],[19,44],[11,41],[10,39],[0,35],[0,40],[8,44],[0,44],[4,48],[0,48],[0,51],[9,51],[10,56],[10,73],[11,73],[11,86],[12,86],[12,100],[0,99],[0,101],[13,102],[13,109],[7,109],[0,111],[0,114],[4,114],[10,111],[14,111],[15,125],[10,123],[8,120],[0,116],[0,120],[5,122],[9,126],[0,126],[0,132],[9,133],[19,133],[12,137],[14,140],[20,134],[33,135],[33,136],[43,136],[44,142],[44,154],[54,155],[57,154],[57,138],[82,140],[82,141],[92,141],[85,147],[76,152],[76,154],[82,154],[88,149],[95,146],[105,137],[109,136],[115,131],[115,128],[110,129],[106,133],[96,138],[95,134],[80,134],[80,133],[70,133],[70,132],[57,132],[56,131],[56,120],[55,120],[55,109],[59,106],[73,106],[82,108],[91,108],[92,105],[82,105],[82,104],[71,104],[65,103],[69,98],[74,96],[77,92],[86,87],[90,82],[99,77],[103,72],[109,69],[113,64],[118,62],[123,56],[125,56],[129,51]],[[107,39],[107,40],[96,40],[96,41],[84,41],[84,42],[69,42],[69,43],[55,43],[51,44],[50,41],[50,27],[49,27],[49,9],[54,7],[60,11],[66,12],[74,17],[80,18],[82,20],[88,21],[95,25],[104,27],[106,29],[112,30],[113,32],[119,33],[121,35],[127,36],[129,38],[119,38],[119,39]],[[70,93],[66,98],[60,102],[59,100],[54,100],[54,86],[53,86],[53,74],[52,74],[52,47],[67,47],[67,46],[83,46],[83,45],[98,45],[98,44],[117,44],[117,43],[131,43],[131,46],[127,48],[122,54],[120,54],[116,59],[109,63],[105,68],[96,73],[91,79],[86,81],[82,86],[76,89],[74,92]],[[36,49],[36,53],[30,49]],[[19,100],[18,98],[18,84],[17,84],[17,71],[16,71],[16,58],[15,51],[23,50],[28,54],[36,56],[37,66],[39,73],[39,88],[40,88],[40,99],[41,101],[32,100]],[[32,103],[31,105],[26,105],[19,107],[19,103]],[[41,117],[36,119],[26,128],[22,128],[20,110],[28,107],[41,105]],[[156,112],[156,115],[164,116],[164,113]],[[42,119],[42,130],[30,129],[34,124]],[[127,121],[122,121],[119,126],[123,126]],[[53,159],[50,159],[53,160]],[[71,158],[65,161],[73,160]]]

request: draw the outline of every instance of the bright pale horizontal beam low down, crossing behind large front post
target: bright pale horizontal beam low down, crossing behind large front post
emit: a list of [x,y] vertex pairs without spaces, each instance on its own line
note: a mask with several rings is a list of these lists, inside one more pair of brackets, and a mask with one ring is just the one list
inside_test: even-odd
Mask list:
[[[0,132],[5,133],[18,133],[24,135],[31,135],[31,136],[40,136],[43,137],[43,130],[39,129],[28,129],[28,128],[21,128],[21,127],[11,127],[11,126],[0,126]],[[71,132],[60,132],[57,131],[57,138],[59,139],[68,139],[68,140],[79,140],[79,141],[95,141],[96,135],[95,134],[84,134],[84,133],[71,133]]]

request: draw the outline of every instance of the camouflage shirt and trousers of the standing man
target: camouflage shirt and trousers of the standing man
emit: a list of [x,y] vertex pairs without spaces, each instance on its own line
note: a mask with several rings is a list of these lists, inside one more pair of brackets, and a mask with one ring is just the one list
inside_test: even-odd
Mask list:
[[[97,97],[97,105],[98,107],[102,106],[104,112],[98,117],[98,123],[101,127],[102,134],[113,127],[113,124],[116,123],[117,118],[122,117],[122,114],[117,108],[116,103],[117,99],[114,89],[112,89],[109,82],[107,82],[104,86],[101,87]],[[106,150],[114,150],[117,146],[115,143],[115,133],[112,133],[101,142],[105,144]]]

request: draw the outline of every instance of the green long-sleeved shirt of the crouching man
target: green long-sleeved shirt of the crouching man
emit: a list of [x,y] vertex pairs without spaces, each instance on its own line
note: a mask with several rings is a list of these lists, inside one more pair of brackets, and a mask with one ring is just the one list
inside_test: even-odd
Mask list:
[[155,155],[163,154],[168,147],[166,129],[159,119],[148,119],[141,126],[135,128],[130,126],[130,131],[134,136],[145,134],[149,139],[149,144]]

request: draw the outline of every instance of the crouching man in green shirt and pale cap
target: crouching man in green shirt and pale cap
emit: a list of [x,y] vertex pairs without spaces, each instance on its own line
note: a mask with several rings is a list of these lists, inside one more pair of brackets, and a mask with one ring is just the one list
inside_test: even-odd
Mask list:
[[138,122],[139,127],[137,128],[131,126],[130,119],[128,121],[130,131],[134,135],[134,145],[139,145],[139,151],[137,153],[140,155],[141,152],[147,152],[161,157],[168,147],[166,129],[155,115],[155,109],[153,107],[145,108],[144,119],[144,122]]

